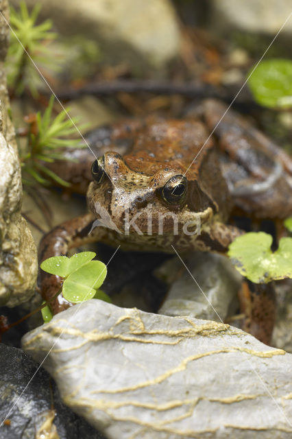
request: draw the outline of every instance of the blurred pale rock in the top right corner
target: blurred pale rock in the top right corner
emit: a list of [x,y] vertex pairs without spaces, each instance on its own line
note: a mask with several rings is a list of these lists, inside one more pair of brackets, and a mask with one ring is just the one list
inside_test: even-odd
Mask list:
[[[230,27],[244,32],[276,34],[291,13],[290,0],[212,0],[212,28],[230,31]],[[282,29],[291,34],[292,21]]]

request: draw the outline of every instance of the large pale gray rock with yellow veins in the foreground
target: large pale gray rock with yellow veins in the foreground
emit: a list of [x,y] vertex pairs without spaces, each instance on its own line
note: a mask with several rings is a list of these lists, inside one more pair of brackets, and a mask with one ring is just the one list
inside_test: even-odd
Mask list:
[[292,355],[226,324],[89,300],[23,348],[109,439],[291,438]]

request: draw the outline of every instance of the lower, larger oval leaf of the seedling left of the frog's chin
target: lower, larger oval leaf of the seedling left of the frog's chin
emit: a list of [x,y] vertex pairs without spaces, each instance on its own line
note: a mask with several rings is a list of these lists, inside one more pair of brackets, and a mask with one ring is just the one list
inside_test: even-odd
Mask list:
[[106,265],[101,261],[90,261],[71,273],[64,281],[62,294],[73,303],[93,298],[96,290],[106,278]]

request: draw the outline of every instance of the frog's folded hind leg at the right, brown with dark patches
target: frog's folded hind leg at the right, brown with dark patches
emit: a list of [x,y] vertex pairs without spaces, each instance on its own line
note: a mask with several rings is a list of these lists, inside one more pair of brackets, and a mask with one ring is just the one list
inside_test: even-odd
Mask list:
[[221,170],[234,204],[253,217],[291,216],[291,156],[226,104],[208,99],[202,108],[208,129],[217,127]]

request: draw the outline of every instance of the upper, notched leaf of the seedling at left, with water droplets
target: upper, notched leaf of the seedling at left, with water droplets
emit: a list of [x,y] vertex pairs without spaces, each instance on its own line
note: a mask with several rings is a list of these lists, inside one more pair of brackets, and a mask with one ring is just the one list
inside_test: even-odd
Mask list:
[[95,252],[75,253],[71,258],[66,256],[53,256],[42,261],[40,268],[44,270],[44,272],[56,274],[56,276],[60,277],[66,277],[82,267],[82,265],[91,261],[95,256]]

